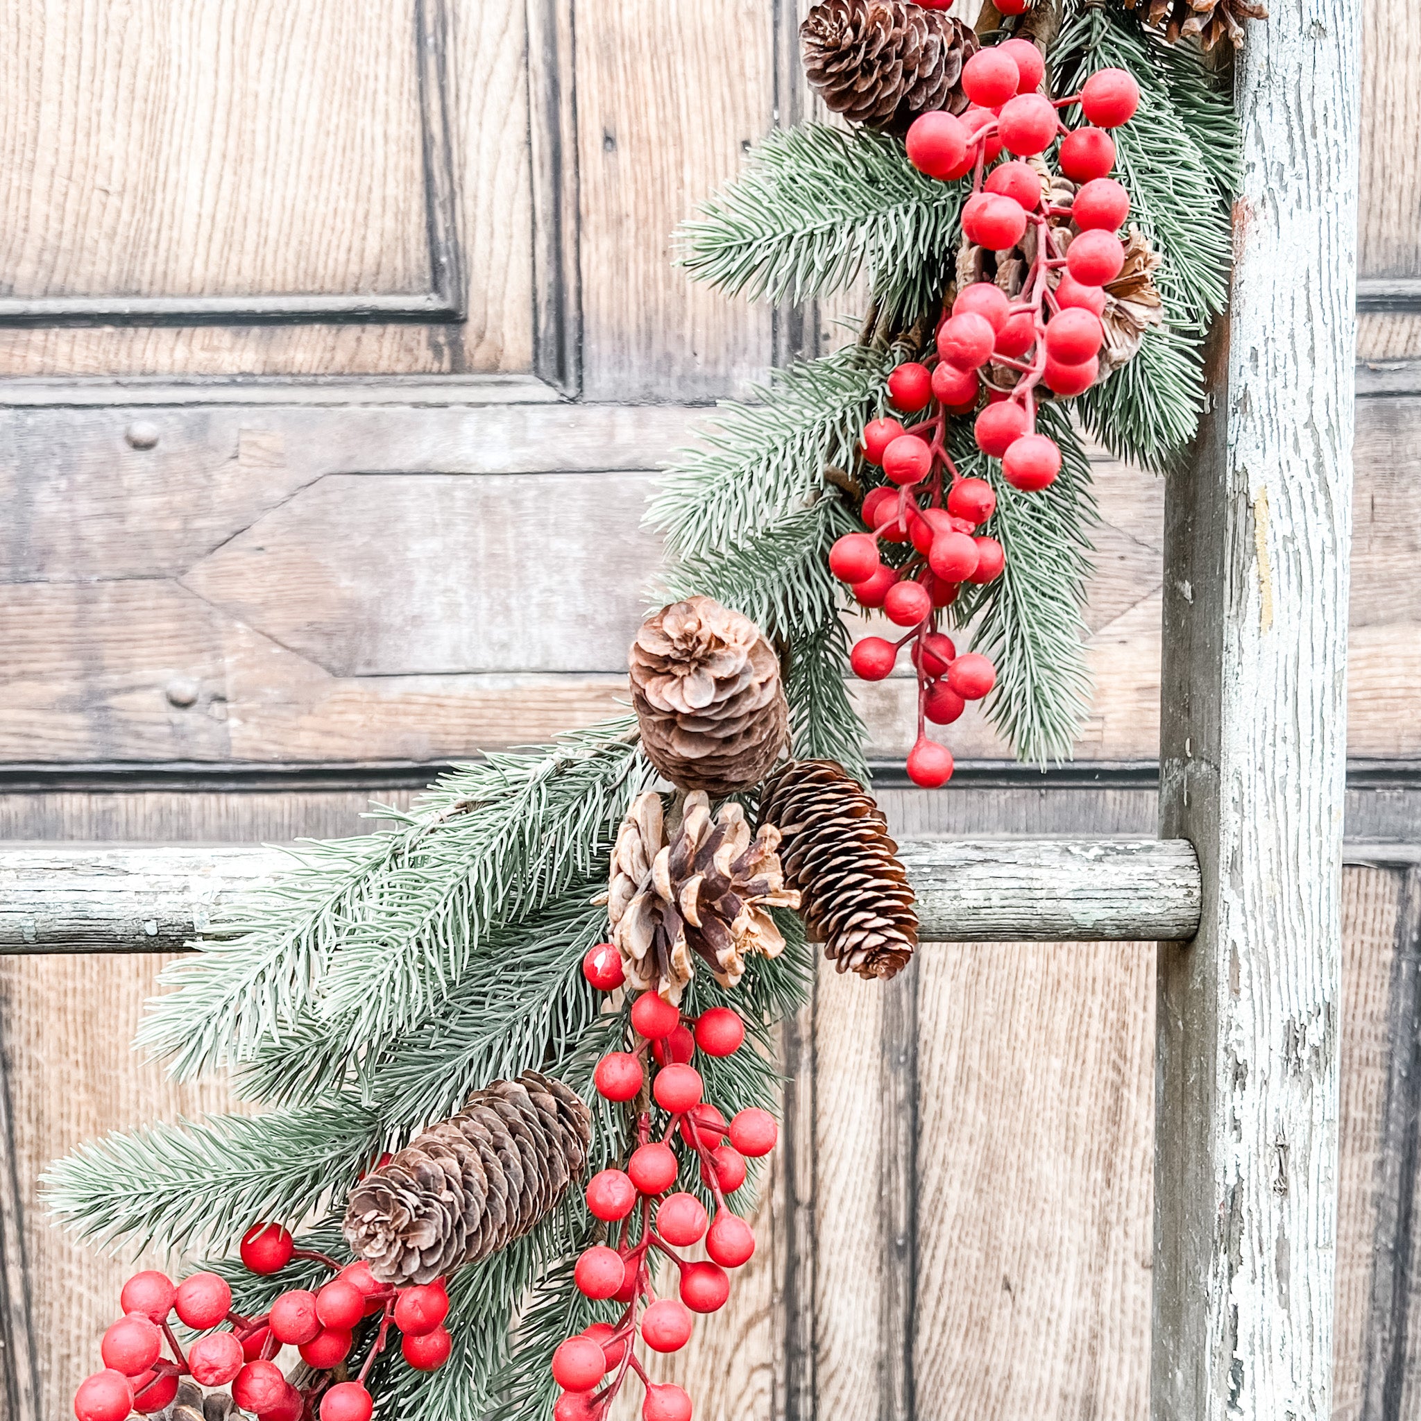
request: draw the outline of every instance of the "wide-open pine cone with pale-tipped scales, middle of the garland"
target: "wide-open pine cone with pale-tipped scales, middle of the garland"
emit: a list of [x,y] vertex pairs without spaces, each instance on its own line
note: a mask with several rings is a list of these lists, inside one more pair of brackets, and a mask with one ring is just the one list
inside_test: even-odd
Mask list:
[[777,830],[753,838],[739,804],[715,818],[702,793],[686,796],[668,840],[659,794],[638,794],[612,848],[607,915],[627,982],[679,1003],[692,953],[722,986],[735,986],[750,955],[779,956],[780,929],[766,908],[797,908],[784,888]]

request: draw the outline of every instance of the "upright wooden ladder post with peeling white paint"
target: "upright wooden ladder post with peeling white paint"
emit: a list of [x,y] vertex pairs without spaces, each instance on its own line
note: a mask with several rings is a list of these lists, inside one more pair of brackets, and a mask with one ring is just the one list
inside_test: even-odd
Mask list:
[[1155,1421],[1330,1415],[1358,0],[1270,0],[1214,408],[1165,512]]

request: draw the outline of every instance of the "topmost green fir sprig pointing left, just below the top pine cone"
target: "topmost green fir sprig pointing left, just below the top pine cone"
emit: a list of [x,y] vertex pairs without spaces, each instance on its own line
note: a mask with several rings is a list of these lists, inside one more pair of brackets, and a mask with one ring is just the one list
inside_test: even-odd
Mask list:
[[679,263],[728,296],[807,301],[865,267],[878,304],[912,317],[942,296],[965,188],[925,178],[865,128],[776,129],[678,232]]

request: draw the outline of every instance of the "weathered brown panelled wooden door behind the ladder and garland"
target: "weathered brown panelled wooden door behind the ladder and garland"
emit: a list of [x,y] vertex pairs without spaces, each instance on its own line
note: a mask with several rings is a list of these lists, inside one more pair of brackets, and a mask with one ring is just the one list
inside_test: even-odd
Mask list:
[[[1349,831],[1414,844],[1403,11],[1370,9]],[[654,470],[708,402],[833,331],[834,310],[728,303],[669,264],[675,222],[809,107],[797,18],[793,0],[0,6],[0,834],[357,833],[372,796],[614,708]],[[1097,490],[1076,764],[1006,764],[969,720],[953,789],[912,790],[904,686],[871,688],[902,833],[1154,831],[1162,489],[1101,460]],[[1421,1312],[1384,1326],[1388,1280],[1410,1297],[1417,1276],[1417,928],[1390,853],[1349,872],[1339,1404],[1367,1421],[1415,1405],[1421,1336]],[[3,1421],[68,1414],[121,1270],[48,1228],[44,1162],[225,1104],[128,1052],[159,966],[0,959]],[[698,1414],[1138,1421],[1151,980],[1128,945],[938,945],[888,992],[826,975],[786,1034],[766,1246],[733,1316],[669,1364],[695,1368]],[[1412,1164],[1383,1187],[1383,1158]]]

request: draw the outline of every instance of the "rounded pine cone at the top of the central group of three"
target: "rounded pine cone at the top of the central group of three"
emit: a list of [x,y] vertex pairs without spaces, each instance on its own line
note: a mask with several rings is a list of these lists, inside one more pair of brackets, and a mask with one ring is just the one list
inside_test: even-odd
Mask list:
[[672,603],[642,622],[627,664],[642,749],[672,784],[720,799],[764,779],[790,712],[749,617],[710,597]]

